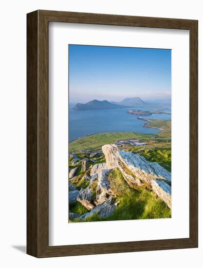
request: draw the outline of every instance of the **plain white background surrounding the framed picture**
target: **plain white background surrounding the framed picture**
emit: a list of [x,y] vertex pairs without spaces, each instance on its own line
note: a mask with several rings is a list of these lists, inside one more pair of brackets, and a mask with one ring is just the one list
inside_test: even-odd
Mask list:
[[[202,267],[203,6],[201,0],[7,0],[0,4],[0,266]],[[36,9],[199,19],[199,249],[36,259],[26,245],[26,13]],[[184,101],[184,100],[182,100]]]

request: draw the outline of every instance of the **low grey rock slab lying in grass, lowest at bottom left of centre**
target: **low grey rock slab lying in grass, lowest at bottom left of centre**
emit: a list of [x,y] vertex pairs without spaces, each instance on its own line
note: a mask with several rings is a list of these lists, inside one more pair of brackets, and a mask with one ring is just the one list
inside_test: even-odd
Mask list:
[[115,211],[114,198],[110,197],[108,200],[96,206],[92,211],[87,212],[80,216],[80,219],[85,220],[87,217],[92,216],[96,213],[101,218],[110,216]]

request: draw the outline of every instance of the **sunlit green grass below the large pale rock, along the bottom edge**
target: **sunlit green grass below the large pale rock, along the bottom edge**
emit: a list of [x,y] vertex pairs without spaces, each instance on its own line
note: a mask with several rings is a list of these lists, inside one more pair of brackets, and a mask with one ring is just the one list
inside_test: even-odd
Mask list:
[[[112,170],[109,180],[111,189],[116,194],[116,202],[120,203],[109,217],[101,218],[97,214],[93,214],[86,218],[86,222],[171,217],[171,210],[165,202],[148,189],[134,190],[130,188],[118,169]],[[72,220],[72,222],[78,221],[78,219]]]

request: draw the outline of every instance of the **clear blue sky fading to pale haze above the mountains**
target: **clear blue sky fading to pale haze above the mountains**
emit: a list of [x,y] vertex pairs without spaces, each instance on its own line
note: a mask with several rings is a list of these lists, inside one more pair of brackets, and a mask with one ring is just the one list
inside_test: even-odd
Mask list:
[[69,45],[70,102],[171,97],[171,50]]

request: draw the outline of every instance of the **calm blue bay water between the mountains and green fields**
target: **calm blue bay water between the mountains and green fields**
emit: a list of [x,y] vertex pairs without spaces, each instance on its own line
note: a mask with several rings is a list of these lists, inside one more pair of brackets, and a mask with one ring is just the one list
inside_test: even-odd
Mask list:
[[[159,130],[144,128],[144,121],[137,119],[137,115],[128,113],[130,108],[104,109],[104,110],[83,110],[74,111],[74,104],[69,105],[69,141],[98,133],[106,132],[137,132],[142,134],[156,134]],[[155,110],[133,107],[133,110]],[[156,109],[171,112],[170,109]],[[143,118],[171,120],[171,115],[153,114],[141,116]]]

